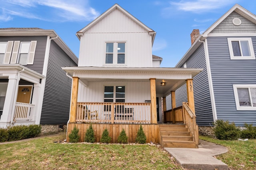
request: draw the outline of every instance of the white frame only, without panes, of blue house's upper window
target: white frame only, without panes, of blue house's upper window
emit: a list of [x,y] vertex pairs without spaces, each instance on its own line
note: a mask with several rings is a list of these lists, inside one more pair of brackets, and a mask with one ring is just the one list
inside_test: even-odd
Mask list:
[[[239,41],[239,42],[240,41],[248,41],[251,56],[234,56],[233,49],[232,49],[232,41]],[[239,43],[239,46],[241,49],[240,43]],[[229,49],[229,54],[230,54],[231,60],[253,60],[253,59],[255,60],[255,54],[254,54],[254,49],[253,49],[253,45],[252,45],[252,38],[250,38],[250,37],[228,38],[228,49]],[[242,55],[242,51],[241,51],[241,55]]]

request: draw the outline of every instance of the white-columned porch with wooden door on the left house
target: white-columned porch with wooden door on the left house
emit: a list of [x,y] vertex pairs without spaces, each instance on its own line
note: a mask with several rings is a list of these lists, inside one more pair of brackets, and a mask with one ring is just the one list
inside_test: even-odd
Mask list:
[[0,127],[38,124],[45,76],[20,64],[0,65]]

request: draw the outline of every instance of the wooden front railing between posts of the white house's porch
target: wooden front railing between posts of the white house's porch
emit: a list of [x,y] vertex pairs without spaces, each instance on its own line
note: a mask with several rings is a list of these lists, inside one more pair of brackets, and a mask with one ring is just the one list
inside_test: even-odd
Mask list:
[[150,123],[151,104],[78,102],[76,122]]

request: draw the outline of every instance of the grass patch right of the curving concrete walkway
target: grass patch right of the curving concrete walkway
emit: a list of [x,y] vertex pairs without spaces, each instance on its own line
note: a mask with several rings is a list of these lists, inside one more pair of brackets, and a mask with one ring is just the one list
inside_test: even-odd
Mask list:
[[199,138],[228,148],[227,153],[216,158],[227,164],[230,170],[256,170],[256,139],[222,141],[209,136]]

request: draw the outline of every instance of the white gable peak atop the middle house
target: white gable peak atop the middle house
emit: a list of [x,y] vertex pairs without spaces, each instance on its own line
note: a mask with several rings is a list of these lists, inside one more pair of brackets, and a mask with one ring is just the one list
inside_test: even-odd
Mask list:
[[[129,22],[123,22],[130,20]],[[123,25],[126,26],[123,26]],[[102,27],[103,25],[103,27]],[[108,27],[106,27],[109,26]],[[122,25],[122,30],[121,27],[111,27],[110,25]],[[82,28],[80,31],[77,32],[77,36],[80,39],[80,37],[86,33],[86,32],[109,32],[109,31],[114,31],[114,32],[126,32],[126,31],[131,31],[131,25],[135,26],[136,30],[140,31],[145,31],[145,32],[152,32],[155,34],[154,30],[150,29],[144,23],[139,21],[137,18],[132,16],[130,13],[128,13],[126,10],[124,10],[122,7],[120,7],[118,4],[114,4],[111,8],[109,8],[106,12],[101,14],[98,18],[96,18],[94,21],[86,25],[86,27]],[[124,27],[126,30],[124,30]],[[110,30],[111,29],[111,30]],[[129,30],[130,29],[130,30]],[[134,28],[133,28],[134,29]],[[154,37],[154,35],[153,35]]]

